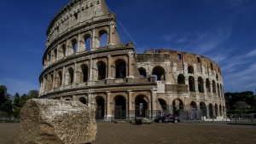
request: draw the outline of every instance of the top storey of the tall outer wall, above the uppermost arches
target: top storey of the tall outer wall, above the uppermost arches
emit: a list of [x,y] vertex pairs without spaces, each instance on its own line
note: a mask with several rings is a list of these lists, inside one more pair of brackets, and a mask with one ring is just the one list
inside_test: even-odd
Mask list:
[[46,46],[72,29],[109,17],[115,19],[115,16],[109,13],[104,0],[73,0],[51,20],[46,32]]

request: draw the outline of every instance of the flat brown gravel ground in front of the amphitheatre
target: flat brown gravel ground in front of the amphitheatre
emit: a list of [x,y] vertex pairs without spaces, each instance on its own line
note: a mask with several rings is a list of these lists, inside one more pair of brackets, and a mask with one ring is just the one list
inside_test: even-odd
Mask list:
[[[256,143],[256,126],[227,124],[99,123],[92,144]],[[18,124],[0,124],[0,144],[11,144]]]

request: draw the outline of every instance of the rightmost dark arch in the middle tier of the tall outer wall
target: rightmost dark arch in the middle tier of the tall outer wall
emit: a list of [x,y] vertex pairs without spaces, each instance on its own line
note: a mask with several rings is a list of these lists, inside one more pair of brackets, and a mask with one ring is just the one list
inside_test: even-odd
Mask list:
[[115,61],[115,78],[126,78],[126,63],[125,60]]

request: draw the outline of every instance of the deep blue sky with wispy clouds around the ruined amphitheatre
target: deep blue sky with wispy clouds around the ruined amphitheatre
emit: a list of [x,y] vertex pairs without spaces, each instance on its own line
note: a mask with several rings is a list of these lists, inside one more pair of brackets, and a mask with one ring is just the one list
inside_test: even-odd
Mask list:
[[[11,95],[39,89],[46,29],[55,13],[68,2],[1,0],[0,84],[7,85]],[[256,92],[255,0],[106,3],[117,14],[122,43],[133,41],[137,52],[177,49],[207,56],[221,66],[225,92]]]

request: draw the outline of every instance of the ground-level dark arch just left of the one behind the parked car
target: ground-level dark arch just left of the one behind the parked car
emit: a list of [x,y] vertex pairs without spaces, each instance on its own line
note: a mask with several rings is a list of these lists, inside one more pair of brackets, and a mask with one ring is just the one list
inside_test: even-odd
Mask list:
[[148,99],[145,95],[137,95],[135,99],[135,117],[148,118]]

